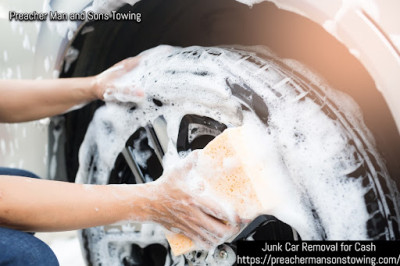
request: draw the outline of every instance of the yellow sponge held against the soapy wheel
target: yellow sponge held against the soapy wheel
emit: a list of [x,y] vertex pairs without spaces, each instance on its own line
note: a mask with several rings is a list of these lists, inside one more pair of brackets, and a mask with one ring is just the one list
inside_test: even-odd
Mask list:
[[[254,180],[250,179],[259,174],[254,164],[249,165],[249,152],[243,128],[237,127],[225,130],[199,154],[199,160],[208,157],[209,168],[213,169],[213,175],[204,176],[204,181],[218,198],[231,203],[236,213],[246,219],[254,218],[254,210],[262,209]],[[182,234],[171,233],[166,237],[175,256],[195,248],[193,241]]]

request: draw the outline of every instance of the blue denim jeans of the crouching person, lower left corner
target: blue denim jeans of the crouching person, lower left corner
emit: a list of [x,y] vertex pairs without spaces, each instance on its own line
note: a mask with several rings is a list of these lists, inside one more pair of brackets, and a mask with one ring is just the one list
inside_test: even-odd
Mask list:
[[[0,175],[38,178],[25,170],[4,167],[0,167]],[[0,227],[0,265],[53,266],[59,263],[50,247],[32,234]]]

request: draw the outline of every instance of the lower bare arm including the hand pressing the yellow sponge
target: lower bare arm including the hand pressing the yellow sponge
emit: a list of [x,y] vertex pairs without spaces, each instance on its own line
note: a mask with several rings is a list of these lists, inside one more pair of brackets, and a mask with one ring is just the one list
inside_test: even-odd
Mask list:
[[218,243],[237,230],[238,221],[231,221],[215,202],[190,193],[179,181],[186,172],[175,169],[144,185],[82,185],[0,176],[0,226],[62,231],[151,221],[178,229],[204,245]]

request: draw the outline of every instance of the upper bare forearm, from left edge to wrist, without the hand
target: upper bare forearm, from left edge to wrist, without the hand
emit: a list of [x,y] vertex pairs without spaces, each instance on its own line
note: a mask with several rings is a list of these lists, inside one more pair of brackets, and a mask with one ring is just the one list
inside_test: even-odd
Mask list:
[[0,122],[24,122],[60,114],[96,99],[93,78],[0,80]]

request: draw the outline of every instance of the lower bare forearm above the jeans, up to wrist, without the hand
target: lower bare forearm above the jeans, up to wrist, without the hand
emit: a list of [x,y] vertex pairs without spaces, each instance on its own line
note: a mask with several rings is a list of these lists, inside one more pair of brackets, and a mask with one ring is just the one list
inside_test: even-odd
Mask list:
[[145,221],[147,188],[0,176],[0,226],[39,232]]

